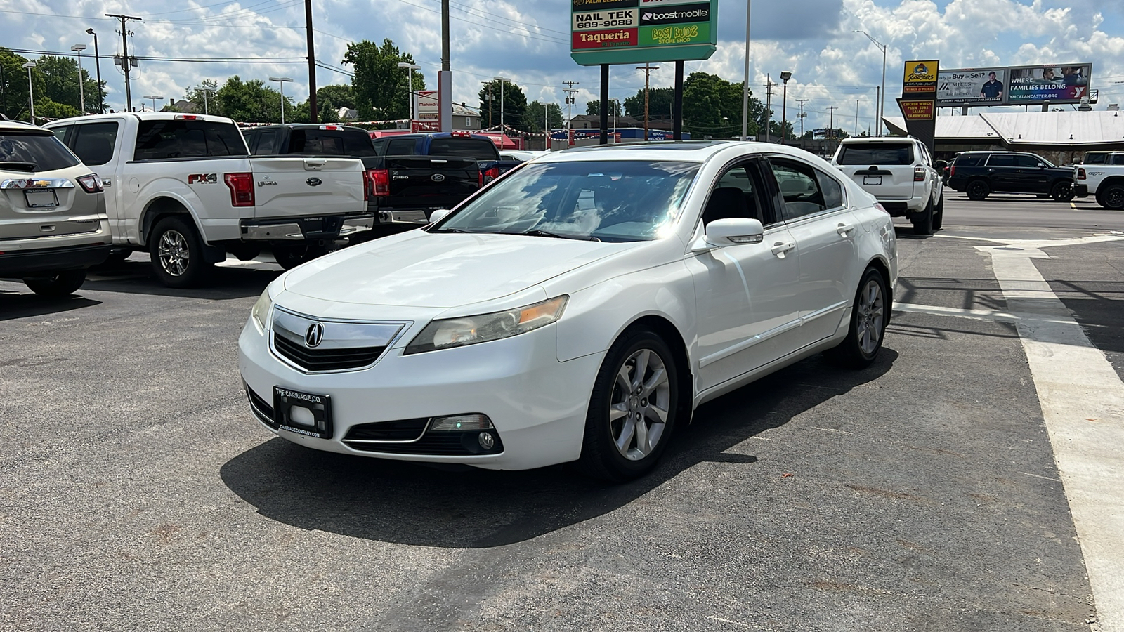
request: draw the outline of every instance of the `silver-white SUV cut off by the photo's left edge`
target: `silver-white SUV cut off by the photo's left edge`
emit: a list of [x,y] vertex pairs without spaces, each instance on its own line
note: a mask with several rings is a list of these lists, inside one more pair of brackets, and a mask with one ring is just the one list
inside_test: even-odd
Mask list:
[[98,175],[51,132],[0,121],[0,277],[66,296],[111,242]]

